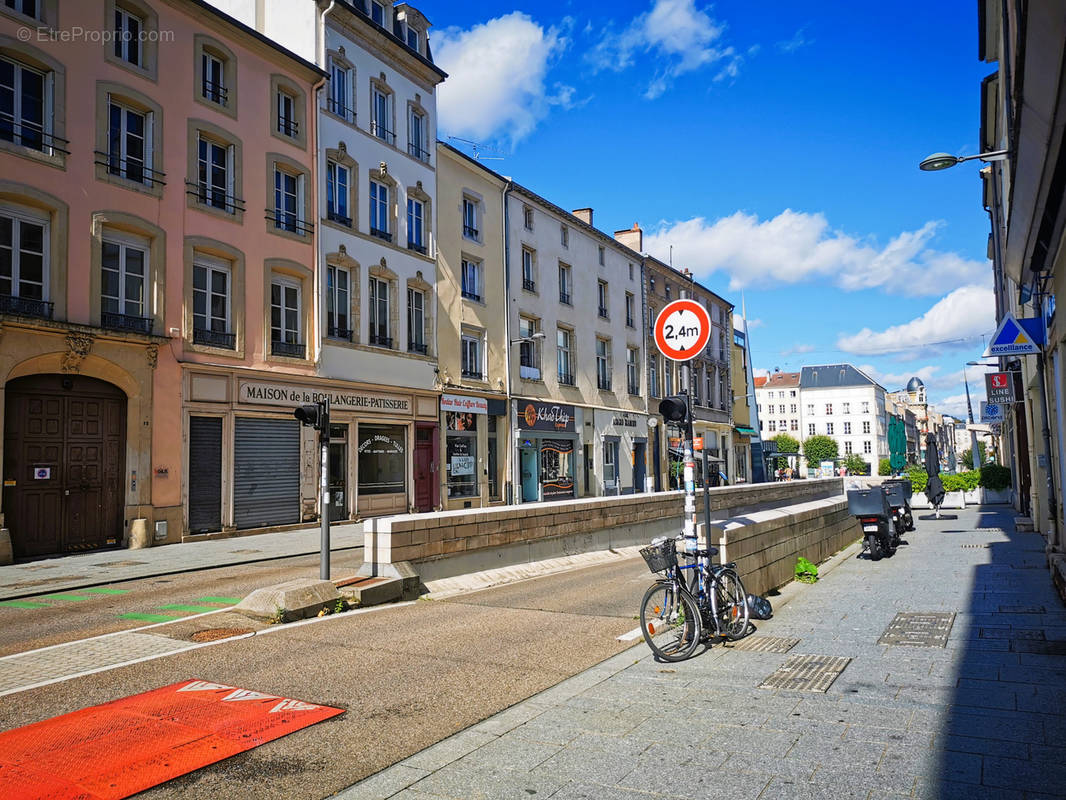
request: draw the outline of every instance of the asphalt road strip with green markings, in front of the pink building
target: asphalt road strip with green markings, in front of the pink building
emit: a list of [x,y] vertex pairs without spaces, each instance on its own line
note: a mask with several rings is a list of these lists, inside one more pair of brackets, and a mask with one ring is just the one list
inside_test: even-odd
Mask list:
[[[361,564],[361,547],[339,550],[332,555],[330,574],[334,578],[354,575]],[[75,589],[23,597],[17,605],[0,603],[0,656],[128,630],[166,617],[188,617],[198,613],[197,608],[225,608],[232,605],[227,598],[241,599],[260,587],[302,577],[319,577],[318,556],[177,573],[106,588],[115,594]]]

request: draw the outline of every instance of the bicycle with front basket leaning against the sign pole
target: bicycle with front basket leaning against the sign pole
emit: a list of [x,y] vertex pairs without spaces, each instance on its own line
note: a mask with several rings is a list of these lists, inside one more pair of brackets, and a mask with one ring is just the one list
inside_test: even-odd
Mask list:
[[657,539],[641,549],[648,569],[663,573],[644,593],[641,631],[664,661],[689,658],[711,636],[736,641],[748,633],[747,592],[737,564],[712,564],[717,547],[685,548],[680,555],[693,563],[679,564],[677,542],[683,539]]

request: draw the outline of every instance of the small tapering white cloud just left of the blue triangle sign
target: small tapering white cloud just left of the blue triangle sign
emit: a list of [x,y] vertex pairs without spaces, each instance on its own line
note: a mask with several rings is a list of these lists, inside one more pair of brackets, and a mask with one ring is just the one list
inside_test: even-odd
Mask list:
[[863,327],[856,334],[841,336],[837,347],[859,355],[907,353],[916,358],[934,357],[947,349],[972,349],[975,340],[995,330],[991,289],[963,286],[941,298],[921,317],[879,332]]

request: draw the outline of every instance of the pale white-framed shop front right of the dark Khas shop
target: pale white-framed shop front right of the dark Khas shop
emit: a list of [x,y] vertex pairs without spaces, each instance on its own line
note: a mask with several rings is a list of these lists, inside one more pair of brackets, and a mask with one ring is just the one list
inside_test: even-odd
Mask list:
[[596,485],[587,494],[628,495],[644,491],[648,475],[648,418],[632,412],[596,410]]

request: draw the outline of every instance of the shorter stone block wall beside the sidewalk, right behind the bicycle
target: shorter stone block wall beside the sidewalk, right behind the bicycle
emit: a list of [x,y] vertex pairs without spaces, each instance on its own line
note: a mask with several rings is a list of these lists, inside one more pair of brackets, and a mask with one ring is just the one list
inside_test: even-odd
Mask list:
[[839,495],[712,523],[710,530],[717,558],[736,561],[744,588],[755,594],[792,580],[800,556],[818,564],[861,537]]

